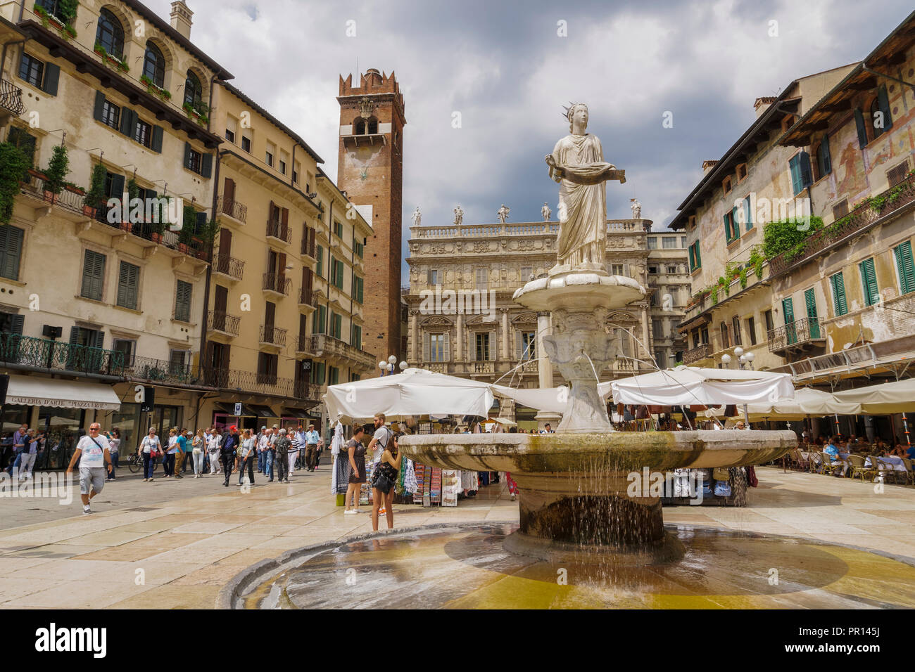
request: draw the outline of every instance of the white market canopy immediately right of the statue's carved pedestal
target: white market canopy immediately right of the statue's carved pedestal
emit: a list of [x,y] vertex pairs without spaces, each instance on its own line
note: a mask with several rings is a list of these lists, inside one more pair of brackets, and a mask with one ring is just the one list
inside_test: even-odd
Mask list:
[[610,383],[623,404],[776,403],[794,398],[791,374],[728,368],[676,367]]

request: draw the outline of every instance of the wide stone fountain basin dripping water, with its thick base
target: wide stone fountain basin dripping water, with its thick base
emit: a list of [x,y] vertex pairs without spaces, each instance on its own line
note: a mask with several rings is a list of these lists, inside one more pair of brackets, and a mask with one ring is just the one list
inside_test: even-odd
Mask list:
[[794,432],[704,431],[556,434],[420,434],[401,450],[443,469],[504,471],[519,487],[520,529],[508,550],[543,560],[614,554],[622,561],[676,560],[661,498],[633,475],[680,468],[763,464],[797,445]]

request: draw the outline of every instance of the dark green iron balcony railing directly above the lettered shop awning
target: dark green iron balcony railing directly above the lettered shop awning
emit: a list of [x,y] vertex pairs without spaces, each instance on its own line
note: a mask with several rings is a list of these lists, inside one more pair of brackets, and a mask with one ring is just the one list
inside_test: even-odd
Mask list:
[[5,364],[124,376],[123,352],[9,332],[0,332],[0,357]]

